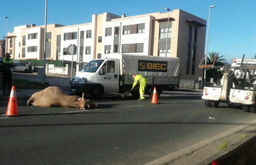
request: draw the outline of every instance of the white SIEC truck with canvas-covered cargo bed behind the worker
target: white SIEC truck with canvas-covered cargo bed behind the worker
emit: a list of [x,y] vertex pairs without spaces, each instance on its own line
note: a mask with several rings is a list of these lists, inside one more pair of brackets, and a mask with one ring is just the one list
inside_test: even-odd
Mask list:
[[[132,88],[132,74],[141,74],[147,79],[145,94],[152,95],[153,87],[156,87],[160,96],[163,90],[179,85],[180,59],[110,53],[88,62],[72,78],[70,91],[83,91],[94,99],[101,98],[104,92],[124,93]],[[139,98],[139,88],[131,94]]]

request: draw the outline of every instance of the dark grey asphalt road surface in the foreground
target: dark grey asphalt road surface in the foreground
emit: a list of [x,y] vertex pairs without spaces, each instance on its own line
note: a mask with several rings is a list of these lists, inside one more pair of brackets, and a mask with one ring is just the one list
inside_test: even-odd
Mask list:
[[[1,164],[145,164],[253,121],[240,107],[207,108],[199,91],[165,92],[160,104],[105,97],[96,110],[19,102],[0,116]],[[7,103],[0,103],[5,113]],[[210,119],[214,118],[214,119]]]

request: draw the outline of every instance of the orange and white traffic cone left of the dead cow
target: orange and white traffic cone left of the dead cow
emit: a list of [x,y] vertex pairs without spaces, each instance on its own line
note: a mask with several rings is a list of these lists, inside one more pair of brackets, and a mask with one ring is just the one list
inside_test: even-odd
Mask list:
[[7,117],[19,116],[17,100],[16,100],[15,86],[12,86],[12,88],[11,88],[11,95],[10,95],[10,98],[9,98],[7,111],[6,111],[6,114],[3,114],[3,116],[7,116]]

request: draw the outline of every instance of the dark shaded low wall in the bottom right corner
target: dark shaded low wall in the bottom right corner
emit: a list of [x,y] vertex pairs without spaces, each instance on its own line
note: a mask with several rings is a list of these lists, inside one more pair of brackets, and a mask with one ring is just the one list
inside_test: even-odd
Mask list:
[[256,158],[256,133],[249,139],[232,144],[227,150],[205,159],[199,165],[211,164],[253,164]]

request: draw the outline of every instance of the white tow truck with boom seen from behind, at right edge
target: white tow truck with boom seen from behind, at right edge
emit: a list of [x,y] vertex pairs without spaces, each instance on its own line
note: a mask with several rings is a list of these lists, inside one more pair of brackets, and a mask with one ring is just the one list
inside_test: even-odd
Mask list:
[[201,65],[202,69],[219,69],[221,81],[204,87],[202,99],[206,107],[218,108],[220,102],[240,104],[244,112],[256,113],[256,60],[232,59],[231,66]]

